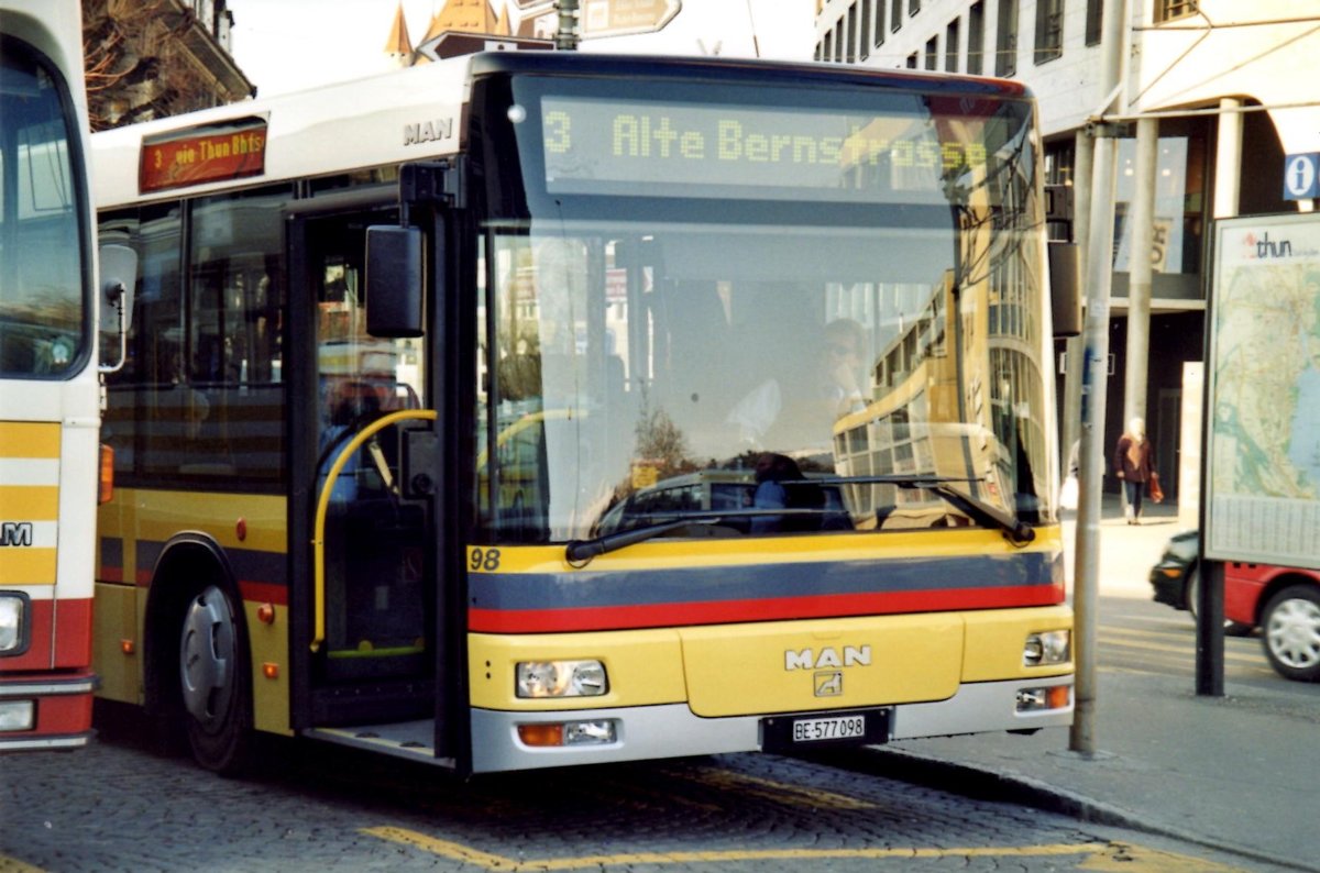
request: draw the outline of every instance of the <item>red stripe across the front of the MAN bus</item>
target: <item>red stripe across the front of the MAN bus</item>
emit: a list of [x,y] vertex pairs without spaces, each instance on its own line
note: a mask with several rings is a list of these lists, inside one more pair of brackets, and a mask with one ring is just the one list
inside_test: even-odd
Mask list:
[[480,633],[558,633],[624,630],[682,625],[842,618],[873,615],[1052,607],[1064,601],[1063,583],[1005,588],[946,588],[869,595],[821,595],[771,600],[717,600],[579,609],[480,609],[467,613],[469,630]]

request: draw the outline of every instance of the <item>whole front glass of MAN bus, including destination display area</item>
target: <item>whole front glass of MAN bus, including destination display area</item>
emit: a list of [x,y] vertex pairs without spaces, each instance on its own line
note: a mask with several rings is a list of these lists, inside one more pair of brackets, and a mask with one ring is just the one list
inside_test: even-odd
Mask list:
[[593,88],[487,107],[523,182],[483,235],[487,535],[985,524],[936,479],[1053,512],[1027,102]]

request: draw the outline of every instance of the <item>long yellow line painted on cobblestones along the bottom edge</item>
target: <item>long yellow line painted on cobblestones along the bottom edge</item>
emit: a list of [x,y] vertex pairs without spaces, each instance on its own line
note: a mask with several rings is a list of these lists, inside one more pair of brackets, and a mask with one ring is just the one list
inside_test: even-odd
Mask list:
[[368,836],[409,845],[451,861],[462,861],[486,870],[519,873],[521,870],[579,870],[586,868],[627,866],[635,864],[727,864],[731,861],[824,861],[882,858],[946,858],[946,857],[1049,857],[1082,856],[1078,869],[1158,873],[1185,870],[1195,861],[1200,870],[1234,870],[1201,858],[1156,852],[1125,843],[1060,843],[1051,845],[985,845],[936,848],[871,848],[871,849],[723,849],[709,852],[634,852],[622,855],[587,855],[582,857],[519,860],[474,849],[462,843],[396,827],[374,827],[362,831]]

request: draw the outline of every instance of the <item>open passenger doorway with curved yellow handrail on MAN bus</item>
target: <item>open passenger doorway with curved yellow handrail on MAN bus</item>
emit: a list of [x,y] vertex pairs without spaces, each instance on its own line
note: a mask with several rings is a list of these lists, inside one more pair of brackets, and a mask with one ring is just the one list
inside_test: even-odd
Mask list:
[[403,483],[408,447],[425,444],[434,417],[424,340],[371,336],[364,305],[366,228],[396,222],[381,210],[290,224],[301,311],[288,360],[305,364],[289,375],[301,452],[290,529],[305,526],[312,543],[308,567],[293,567],[296,663],[306,659],[293,721],[350,744],[367,733],[388,742],[436,711],[433,509]]

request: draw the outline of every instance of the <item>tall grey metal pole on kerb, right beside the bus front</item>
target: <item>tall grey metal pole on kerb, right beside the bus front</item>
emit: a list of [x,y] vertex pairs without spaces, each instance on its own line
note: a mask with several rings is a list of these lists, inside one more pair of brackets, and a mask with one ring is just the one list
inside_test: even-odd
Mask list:
[[[1127,8],[1123,0],[1105,0],[1104,67],[1100,92],[1106,100],[1118,95],[1122,82],[1123,40]],[[1100,107],[1104,116],[1111,105]],[[1109,291],[1114,278],[1114,182],[1118,131],[1107,124],[1092,124],[1094,166],[1092,183],[1090,235],[1086,243],[1086,322],[1082,330],[1084,363],[1081,385],[1081,447],[1078,459],[1077,547],[1073,571],[1073,636],[1077,675],[1073,692],[1076,708],[1069,749],[1082,754],[1096,752],[1096,641],[1100,592],[1100,497],[1105,483],[1105,404],[1109,390]]]

